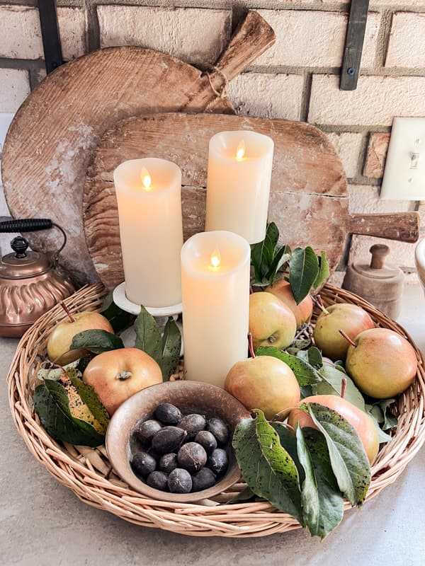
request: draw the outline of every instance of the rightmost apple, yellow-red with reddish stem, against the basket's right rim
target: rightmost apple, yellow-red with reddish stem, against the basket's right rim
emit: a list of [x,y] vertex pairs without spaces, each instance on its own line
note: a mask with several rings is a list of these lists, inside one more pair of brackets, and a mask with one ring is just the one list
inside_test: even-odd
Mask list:
[[394,397],[414,381],[418,361],[407,340],[388,328],[360,333],[348,345],[346,370],[356,386],[377,399]]

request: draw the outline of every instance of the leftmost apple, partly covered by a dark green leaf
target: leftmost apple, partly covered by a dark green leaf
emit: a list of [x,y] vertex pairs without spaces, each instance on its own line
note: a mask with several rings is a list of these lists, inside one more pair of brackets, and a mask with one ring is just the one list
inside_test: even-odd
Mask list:
[[111,323],[100,313],[93,311],[82,311],[81,313],[71,314],[66,306],[61,303],[62,308],[67,312],[67,320],[58,323],[52,330],[47,341],[47,356],[51,362],[64,366],[74,362],[87,353],[86,350],[69,350],[72,338],[84,330],[106,330],[113,333]]

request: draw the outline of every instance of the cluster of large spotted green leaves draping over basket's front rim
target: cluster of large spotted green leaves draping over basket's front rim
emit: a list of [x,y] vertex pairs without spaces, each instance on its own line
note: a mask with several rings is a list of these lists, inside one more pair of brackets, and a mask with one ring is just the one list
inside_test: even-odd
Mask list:
[[317,429],[268,422],[261,410],[237,425],[233,447],[251,493],[295,517],[310,533],[325,538],[343,516],[344,498],[361,507],[370,466],[351,424],[334,410],[303,403]]

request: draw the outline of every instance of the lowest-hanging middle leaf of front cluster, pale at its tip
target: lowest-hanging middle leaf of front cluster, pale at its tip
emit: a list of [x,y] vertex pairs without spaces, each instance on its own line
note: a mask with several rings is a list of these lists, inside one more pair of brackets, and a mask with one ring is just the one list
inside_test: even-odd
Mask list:
[[297,427],[297,449],[305,469],[301,500],[305,523],[312,536],[322,540],[341,523],[344,500],[331,468],[323,434]]

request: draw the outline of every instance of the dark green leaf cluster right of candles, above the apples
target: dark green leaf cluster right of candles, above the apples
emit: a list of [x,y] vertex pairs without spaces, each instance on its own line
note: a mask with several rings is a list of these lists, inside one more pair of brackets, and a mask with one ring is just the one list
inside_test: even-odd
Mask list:
[[290,289],[297,304],[309,294],[310,289],[318,289],[329,277],[329,264],[326,252],[317,255],[314,250],[295,248],[279,243],[279,230],[274,222],[267,226],[266,238],[251,249],[251,266],[254,277],[251,284],[268,287],[288,272]]

